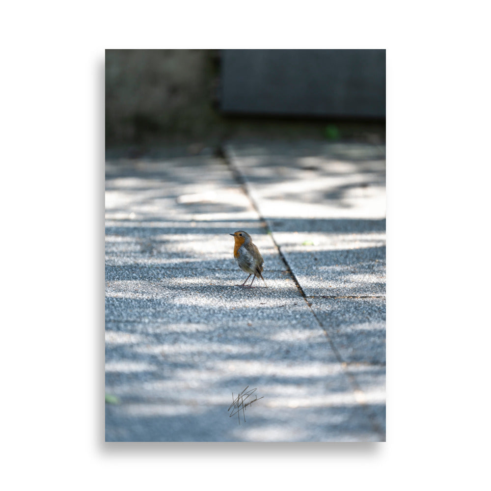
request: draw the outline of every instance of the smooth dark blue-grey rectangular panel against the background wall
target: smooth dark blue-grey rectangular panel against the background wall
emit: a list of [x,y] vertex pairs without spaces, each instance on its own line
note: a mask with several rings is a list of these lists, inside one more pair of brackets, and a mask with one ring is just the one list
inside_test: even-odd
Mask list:
[[229,113],[385,117],[385,50],[223,50]]

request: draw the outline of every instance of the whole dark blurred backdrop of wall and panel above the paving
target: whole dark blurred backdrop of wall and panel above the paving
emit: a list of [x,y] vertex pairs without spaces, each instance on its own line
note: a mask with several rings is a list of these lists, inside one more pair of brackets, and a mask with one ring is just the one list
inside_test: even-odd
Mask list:
[[106,50],[106,149],[385,141],[385,50]]

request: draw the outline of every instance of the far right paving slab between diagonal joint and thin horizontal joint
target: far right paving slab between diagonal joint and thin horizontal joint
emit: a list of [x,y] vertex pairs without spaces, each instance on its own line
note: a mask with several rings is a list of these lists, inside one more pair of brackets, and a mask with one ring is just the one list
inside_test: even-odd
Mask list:
[[385,152],[229,144],[231,164],[307,296],[385,296]]

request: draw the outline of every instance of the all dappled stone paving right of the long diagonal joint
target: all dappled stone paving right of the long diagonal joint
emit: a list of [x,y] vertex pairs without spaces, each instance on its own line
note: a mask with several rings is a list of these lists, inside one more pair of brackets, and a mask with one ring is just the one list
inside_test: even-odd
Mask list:
[[384,434],[384,146],[232,142],[226,153]]

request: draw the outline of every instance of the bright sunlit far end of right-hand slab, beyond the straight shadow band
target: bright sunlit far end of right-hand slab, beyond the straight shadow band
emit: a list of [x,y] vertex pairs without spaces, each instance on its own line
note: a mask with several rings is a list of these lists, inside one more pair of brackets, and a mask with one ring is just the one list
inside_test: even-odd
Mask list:
[[[300,151],[293,146],[283,148],[278,154],[241,145],[229,145],[227,151],[265,216],[385,216],[385,161],[381,149],[316,145],[314,150],[309,146]],[[258,155],[250,157],[250,151]]]

